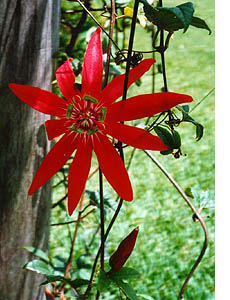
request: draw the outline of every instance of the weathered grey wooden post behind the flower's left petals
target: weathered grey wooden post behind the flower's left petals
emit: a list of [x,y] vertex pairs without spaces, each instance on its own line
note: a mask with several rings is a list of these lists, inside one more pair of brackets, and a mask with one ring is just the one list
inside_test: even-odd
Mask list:
[[41,275],[23,270],[48,249],[50,184],[32,197],[28,188],[49,150],[49,117],[22,103],[9,83],[51,89],[58,49],[60,0],[0,1],[0,300],[44,300]]

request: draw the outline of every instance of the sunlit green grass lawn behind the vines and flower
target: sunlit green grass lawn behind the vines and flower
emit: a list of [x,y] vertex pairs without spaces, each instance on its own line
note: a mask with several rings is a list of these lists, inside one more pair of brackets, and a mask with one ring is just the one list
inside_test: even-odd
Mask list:
[[[195,15],[205,19],[214,31],[214,1],[193,2],[196,8]],[[165,6],[179,3],[182,1],[164,1]],[[139,25],[134,48],[151,50],[150,34]],[[156,57],[156,60],[160,63],[159,57]],[[169,90],[191,95],[194,98],[194,103],[190,105],[192,109],[214,87],[214,32],[210,36],[207,31],[194,27],[190,27],[185,34],[176,32],[166,52],[166,64]],[[143,77],[140,87],[134,85],[130,88],[129,96],[151,92],[151,80],[151,72],[148,72]],[[157,74],[156,91],[160,91],[162,85],[162,75]],[[195,126],[190,123],[182,124],[178,131],[182,136],[184,155],[175,159],[171,155],[153,154],[183,189],[192,188],[195,191],[196,197],[192,201],[199,208],[200,200],[214,199],[214,93],[194,109],[191,116],[203,124],[204,137],[197,142]],[[131,148],[125,150],[126,162],[131,151]],[[95,158],[94,162],[96,163]],[[191,210],[182,197],[141,150],[135,152],[129,174],[134,200],[132,203],[124,203],[122,207],[106,245],[106,257],[115,250],[123,237],[139,226],[135,250],[126,264],[141,274],[140,279],[133,282],[133,286],[137,293],[145,295],[146,299],[174,300],[186,274],[200,253],[203,231],[199,223],[193,222]],[[87,188],[98,189],[97,175],[87,183]],[[105,192],[111,200],[116,198],[107,184]],[[57,192],[54,193],[54,198],[57,195]],[[112,213],[111,209],[107,215],[107,223]],[[210,218],[206,219],[210,235],[209,247],[188,284],[184,295],[186,300],[214,299],[214,211],[209,209],[207,213],[210,215]],[[52,222],[60,222],[63,219],[66,219],[63,210],[54,209]],[[99,214],[96,210],[95,214],[82,223],[75,260],[85,253],[84,244],[86,245],[93,236],[98,220]],[[60,226],[52,229],[52,255],[68,257],[68,235],[69,230],[73,232],[73,228],[69,226],[63,229]],[[98,239],[93,242],[95,247],[99,238],[98,235]],[[88,256],[88,262],[92,263],[94,254],[95,250]],[[81,276],[89,274],[87,268],[81,272],[79,271]],[[106,293],[102,299],[118,299],[118,296]]]

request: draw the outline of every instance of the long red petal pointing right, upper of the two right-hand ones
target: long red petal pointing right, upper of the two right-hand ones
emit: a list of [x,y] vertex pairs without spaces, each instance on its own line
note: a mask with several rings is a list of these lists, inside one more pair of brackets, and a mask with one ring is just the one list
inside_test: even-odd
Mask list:
[[137,120],[192,101],[189,95],[170,92],[139,95],[112,104],[107,110],[106,118],[114,121]]

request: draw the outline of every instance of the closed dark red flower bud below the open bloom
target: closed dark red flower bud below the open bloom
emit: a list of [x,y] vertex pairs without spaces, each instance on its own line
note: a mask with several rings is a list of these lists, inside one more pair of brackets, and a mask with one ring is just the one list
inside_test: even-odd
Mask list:
[[131,255],[136,243],[139,227],[136,227],[118,246],[109,259],[109,265],[114,271],[119,271]]

